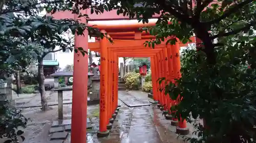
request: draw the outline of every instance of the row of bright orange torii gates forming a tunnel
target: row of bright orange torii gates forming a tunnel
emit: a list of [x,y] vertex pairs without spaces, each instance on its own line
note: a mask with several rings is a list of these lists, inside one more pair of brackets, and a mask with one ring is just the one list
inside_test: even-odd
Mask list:
[[[104,37],[97,42],[89,43],[90,50],[100,52],[101,62],[98,136],[104,136],[109,133],[110,119],[115,116],[114,113],[118,106],[119,57],[150,57],[154,100],[159,101],[161,105],[165,105],[164,110],[168,111],[170,111],[170,107],[174,103],[178,103],[178,101],[173,101],[169,96],[165,96],[163,92],[158,90],[163,88],[164,84],[159,84],[157,80],[165,77],[168,81],[174,82],[174,79],[180,78],[179,50],[181,46],[187,46],[188,43],[177,42],[175,45],[166,45],[166,39],[162,44],[156,45],[154,49],[145,47],[143,43],[155,37],[148,33],[141,33],[138,30],[142,26],[152,24],[141,25],[135,23],[130,25],[96,26],[101,30],[101,33],[107,33],[107,36],[113,40],[113,43],[111,43]],[[192,41],[191,43],[195,43],[195,37],[191,37],[190,40]],[[173,120],[177,121],[177,119]],[[186,128],[186,121],[179,123],[179,128]]]

